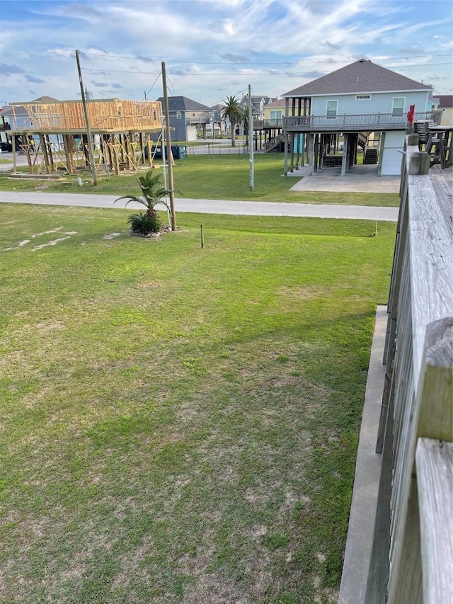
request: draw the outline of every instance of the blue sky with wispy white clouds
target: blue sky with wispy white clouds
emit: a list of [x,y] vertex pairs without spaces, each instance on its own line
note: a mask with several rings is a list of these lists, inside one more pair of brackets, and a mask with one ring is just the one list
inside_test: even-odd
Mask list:
[[168,93],[212,106],[279,97],[357,59],[453,90],[452,2],[0,0],[0,106]]

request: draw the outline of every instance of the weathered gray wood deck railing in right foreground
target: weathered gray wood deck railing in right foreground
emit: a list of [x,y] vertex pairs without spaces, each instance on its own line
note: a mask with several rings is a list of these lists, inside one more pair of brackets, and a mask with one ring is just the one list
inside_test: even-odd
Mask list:
[[405,153],[365,604],[453,602],[452,202],[418,135]]

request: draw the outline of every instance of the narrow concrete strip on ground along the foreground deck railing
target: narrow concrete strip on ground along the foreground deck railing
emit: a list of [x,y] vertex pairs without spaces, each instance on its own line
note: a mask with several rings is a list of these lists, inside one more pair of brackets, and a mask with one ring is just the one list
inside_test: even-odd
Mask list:
[[384,355],[387,309],[378,306],[369,357],[354,489],[346,540],[345,562],[338,604],[364,604],[372,551],[382,456],[374,452],[384,390]]

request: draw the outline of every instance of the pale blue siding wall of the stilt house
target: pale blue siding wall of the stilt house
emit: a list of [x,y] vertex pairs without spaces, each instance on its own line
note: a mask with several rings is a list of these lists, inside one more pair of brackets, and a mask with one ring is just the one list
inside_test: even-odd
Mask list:
[[[360,94],[360,93],[359,93]],[[428,92],[372,92],[369,100],[357,101],[355,94],[314,96],[311,99],[311,115],[327,115],[327,101],[338,101],[337,115],[365,115],[368,113],[391,113],[395,97],[403,97],[403,115],[410,105],[415,105],[415,111],[426,111]]]

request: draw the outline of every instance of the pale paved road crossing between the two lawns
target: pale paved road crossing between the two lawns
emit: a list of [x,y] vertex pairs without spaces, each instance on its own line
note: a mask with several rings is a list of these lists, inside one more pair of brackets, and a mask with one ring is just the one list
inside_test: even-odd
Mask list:
[[[0,191],[2,203],[37,203],[42,205],[75,205],[119,209],[113,204],[115,195],[80,195],[74,193],[16,193]],[[143,206],[130,203],[128,209]],[[352,218],[396,222],[398,207],[370,207],[364,205],[321,205],[311,203],[272,203],[260,201],[229,201],[214,199],[176,199],[176,212],[230,214],[248,216],[298,216],[316,218]]]

